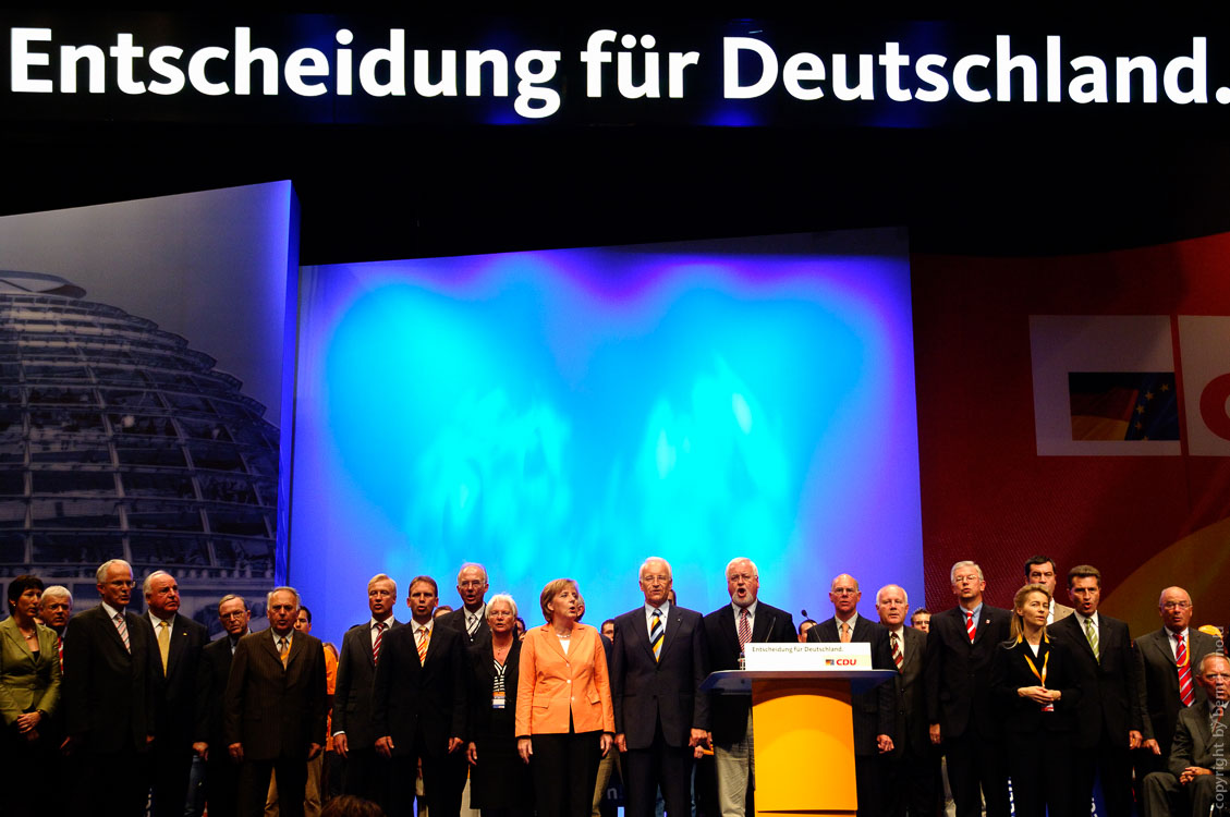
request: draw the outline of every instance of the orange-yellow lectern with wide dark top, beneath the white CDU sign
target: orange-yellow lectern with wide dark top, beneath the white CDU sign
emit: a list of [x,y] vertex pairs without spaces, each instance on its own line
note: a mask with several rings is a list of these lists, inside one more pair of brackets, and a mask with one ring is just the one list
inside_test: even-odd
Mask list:
[[752,695],[758,816],[856,813],[850,694],[894,674],[892,669],[727,669],[705,679],[701,691]]

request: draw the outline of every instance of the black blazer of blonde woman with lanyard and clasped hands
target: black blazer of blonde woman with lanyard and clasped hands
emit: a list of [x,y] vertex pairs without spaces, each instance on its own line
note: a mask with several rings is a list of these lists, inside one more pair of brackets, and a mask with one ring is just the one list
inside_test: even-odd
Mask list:
[[[932,619],[934,620],[934,619]],[[1047,689],[1058,689],[1060,699],[1055,711],[1043,712],[1042,706],[1028,698],[1021,698],[1017,689],[1036,687],[1042,682],[1030,669],[1028,657],[1042,672],[1047,666]],[[1074,732],[1076,710],[1080,707],[1080,677],[1071,651],[1063,641],[1043,640],[1038,645],[1038,657],[1022,641],[1005,641],[995,650],[991,662],[991,690],[995,705],[1004,720],[1004,730],[1012,735],[1037,735],[1039,732]]]

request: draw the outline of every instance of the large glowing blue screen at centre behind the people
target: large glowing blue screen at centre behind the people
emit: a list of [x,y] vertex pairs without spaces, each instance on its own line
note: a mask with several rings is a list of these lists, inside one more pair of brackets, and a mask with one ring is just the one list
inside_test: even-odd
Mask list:
[[[367,581],[464,561],[530,626],[556,577],[585,621],[641,598],[828,618],[850,572],[922,599],[904,233],[872,230],[305,267],[289,581],[315,634],[367,619]],[[405,607],[397,616],[408,618]]]

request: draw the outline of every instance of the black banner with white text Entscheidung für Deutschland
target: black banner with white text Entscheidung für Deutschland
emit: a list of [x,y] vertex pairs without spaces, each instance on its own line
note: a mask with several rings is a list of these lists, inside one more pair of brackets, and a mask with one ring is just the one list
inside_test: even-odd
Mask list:
[[9,14],[7,121],[715,127],[1230,122],[1220,25]]

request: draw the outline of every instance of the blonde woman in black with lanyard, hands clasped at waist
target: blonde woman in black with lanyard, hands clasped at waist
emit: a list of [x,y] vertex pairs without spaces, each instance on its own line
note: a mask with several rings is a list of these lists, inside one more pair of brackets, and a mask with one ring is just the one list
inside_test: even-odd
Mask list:
[[1022,587],[1012,609],[1012,637],[991,662],[991,694],[1002,714],[1016,815],[1075,817],[1076,664],[1068,646],[1047,635],[1046,586]]

